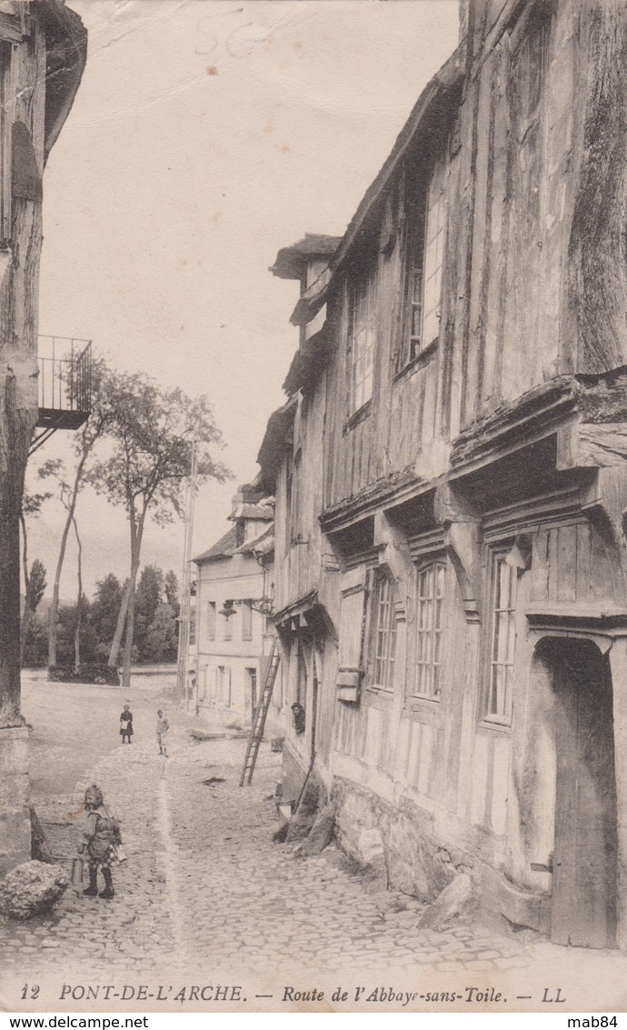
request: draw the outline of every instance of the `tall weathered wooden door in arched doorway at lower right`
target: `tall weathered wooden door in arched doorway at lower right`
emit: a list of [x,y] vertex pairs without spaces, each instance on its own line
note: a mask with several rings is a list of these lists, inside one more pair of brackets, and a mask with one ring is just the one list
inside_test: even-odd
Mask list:
[[590,642],[554,651],[556,814],[551,939],[613,948],[617,826],[612,678]]

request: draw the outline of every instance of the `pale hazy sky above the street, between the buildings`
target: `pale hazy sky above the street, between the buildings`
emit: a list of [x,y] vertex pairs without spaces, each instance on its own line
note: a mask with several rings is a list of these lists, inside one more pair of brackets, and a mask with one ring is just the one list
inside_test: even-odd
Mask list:
[[[295,282],[269,272],[306,232],[341,236],[420,92],[457,43],[457,0],[68,0],[85,72],[44,175],[42,334],[93,341],[120,371],[205,393],[233,472],[198,496],[193,553],[230,526],[256,473],[298,346]],[[71,434],[31,458],[71,465]],[[88,596],[128,573],[121,509],[85,491]],[[51,584],[63,509],[30,520]],[[142,563],[177,575],[180,522],[146,530]],[[71,598],[70,545],[62,597]]]

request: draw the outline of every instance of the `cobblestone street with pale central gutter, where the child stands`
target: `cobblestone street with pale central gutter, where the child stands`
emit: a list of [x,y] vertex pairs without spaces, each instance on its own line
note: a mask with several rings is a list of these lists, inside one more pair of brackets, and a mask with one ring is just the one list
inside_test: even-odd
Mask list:
[[[0,923],[7,1007],[28,1007],[20,997],[27,984],[42,991],[50,985],[44,1005],[50,1009],[62,1001],[84,1007],[76,986],[90,984],[116,985],[118,1000],[101,994],[90,1001],[96,1010],[133,1007],[131,989],[139,985],[149,986],[139,1007],[150,1008],[150,998],[160,1007],[160,985],[159,1000],[171,1000],[182,986],[187,995],[178,1000],[194,1007],[201,999],[188,997],[190,986],[220,983],[243,985],[246,1007],[253,1008],[272,1008],[285,986],[323,985],[328,998],[345,984],[351,998],[357,985],[416,992],[409,1007],[417,1010],[436,991],[459,995],[453,1005],[437,1007],[467,1007],[463,991],[473,985],[493,986],[510,1002],[516,997],[517,1007],[535,1008],[545,987],[567,994],[577,985],[572,1009],[583,1007],[586,985],[592,990],[607,981],[616,996],[625,982],[618,953],[555,948],[529,931],[506,935],[480,924],[445,933],[416,929],[419,903],[369,893],[335,848],[301,860],[291,846],[272,842],[280,755],[264,745],[252,786],[241,789],[245,741],[197,743],[183,716],[173,721],[168,759],[152,739],[118,746],[85,769],[71,796],[39,804],[48,844],[69,873],[75,814],[85,786],[99,783],[120,821],[128,861],[114,870],[110,901],[85,898],[71,886],[51,916]],[[124,985],[130,986],[123,997]],[[255,994],[273,998],[253,1004]],[[598,1008],[596,990],[595,996]]]

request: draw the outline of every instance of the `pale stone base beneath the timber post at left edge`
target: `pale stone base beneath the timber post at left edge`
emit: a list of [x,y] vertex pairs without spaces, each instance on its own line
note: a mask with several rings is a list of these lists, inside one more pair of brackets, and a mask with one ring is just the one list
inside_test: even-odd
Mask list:
[[0,729],[0,878],[31,857],[29,730]]

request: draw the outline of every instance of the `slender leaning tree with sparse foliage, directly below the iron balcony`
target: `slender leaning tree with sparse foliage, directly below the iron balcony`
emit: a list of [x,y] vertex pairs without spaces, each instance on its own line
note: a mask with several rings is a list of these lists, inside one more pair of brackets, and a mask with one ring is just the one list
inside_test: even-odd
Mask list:
[[[98,358],[92,367],[92,411],[86,422],[76,435],[74,453],[76,465],[72,473],[68,475],[63,461],[53,459],[45,461],[39,470],[42,479],[54,478],[59,487],[59,500],[67,512],[65,525],[61,535],[61,546],[59,548],[59,558],[55,571],[55,582],[53,585],[53,600],[49,612],[48,631],[48,665],[57,664],[57,613],[59,609],[59,587],[61,584],[61,573],[65,561],[65,553],[70,529],[74,527],[76,541],[78,540],[78,527],[76,524],[76,504],[78,494],[86,482],[88,462],[93,453],[98,440],[111,419],[110,393],[108,382],[111,373],[109,372],[103,358]],[[80,573],[79,573],[80,578]],[[78,584],[78,597],[81,596],[81,584]],[[78,617],[80,617],[80,602],[78,604]],[[78,640],[78,638],[77,638]]]

